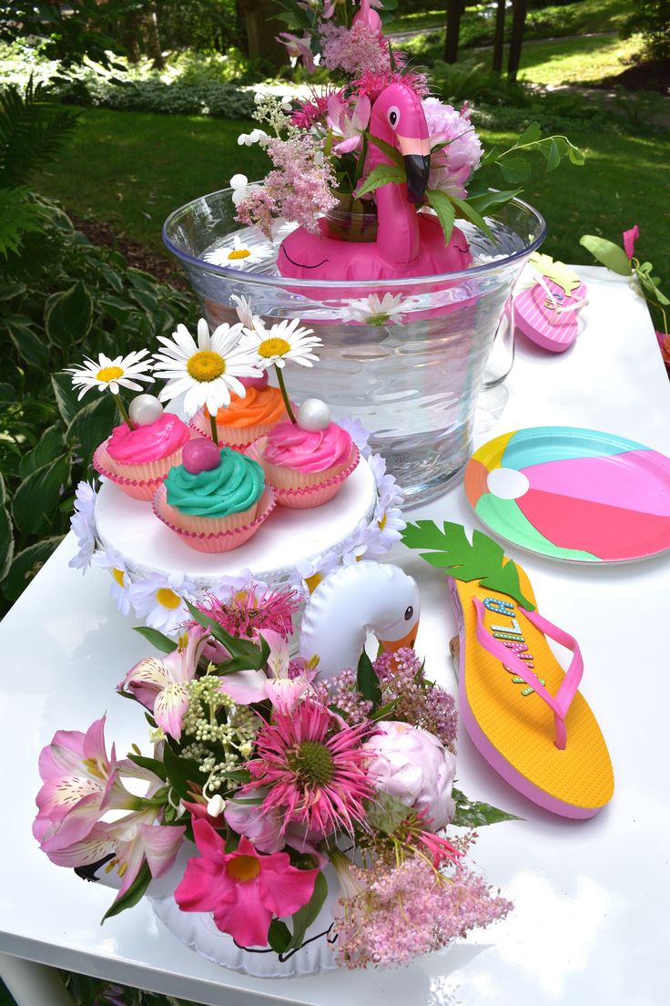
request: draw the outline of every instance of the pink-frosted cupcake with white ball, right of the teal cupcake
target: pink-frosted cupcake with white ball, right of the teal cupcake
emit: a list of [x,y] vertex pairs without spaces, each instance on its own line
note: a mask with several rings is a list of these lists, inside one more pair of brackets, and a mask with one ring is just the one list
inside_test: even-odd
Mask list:
[[332,499],[360,457],[350,435],[330,422],[327,405],[317,398],[300,405],[296,423],[278,423],[248,453],[262,464],[277,503],[300,510]]

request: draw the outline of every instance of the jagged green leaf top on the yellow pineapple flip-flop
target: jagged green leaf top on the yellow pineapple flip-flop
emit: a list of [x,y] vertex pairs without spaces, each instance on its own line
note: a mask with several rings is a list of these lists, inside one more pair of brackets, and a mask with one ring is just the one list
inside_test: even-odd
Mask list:
[[409,548],[431,549],[421,558],[454,579],[478,579],[482,586],[514,598],[526,611],[534,610],[521,593],[515,563],[505,559],[502,546],[482,531],[473,532],[470,544],[462,524],[445,521],[440,530],[432,520],[419,520],[407,525],[402,540]]

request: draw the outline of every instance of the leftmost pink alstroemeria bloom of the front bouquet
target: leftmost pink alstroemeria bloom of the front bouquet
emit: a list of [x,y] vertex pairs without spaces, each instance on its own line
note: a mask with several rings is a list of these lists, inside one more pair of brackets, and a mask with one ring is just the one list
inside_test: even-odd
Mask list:
[[105,810],[134,806],[136,798],[118,779],[114,745],[107,757],[104,719],[96,719],[85,733],[58,730],[39,756],[44,785],[35,801],[33,834],[47,854],[85,838]]

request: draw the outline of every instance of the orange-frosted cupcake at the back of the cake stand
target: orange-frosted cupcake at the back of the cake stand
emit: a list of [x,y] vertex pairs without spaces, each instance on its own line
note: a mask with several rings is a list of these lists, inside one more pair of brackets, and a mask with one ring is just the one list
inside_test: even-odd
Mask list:
[[[246,388],[246,395],[240,398],[232,394],[228,407],[218,410],[216,431],[219,447],[243,451],[287,416],[281,392],[268,385],[266,372],[261,377],[240,377],[239,380]],[[207,406],[198,409],[190,426],[199,437],[211,437]]]

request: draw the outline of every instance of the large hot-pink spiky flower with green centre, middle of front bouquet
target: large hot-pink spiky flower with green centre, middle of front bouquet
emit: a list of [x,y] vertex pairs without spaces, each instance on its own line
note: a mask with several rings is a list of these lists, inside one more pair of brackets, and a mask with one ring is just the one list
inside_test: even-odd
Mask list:
[[361,746],[369,731],[369,723],[343,727],[326,706],[305,698],[260,728],[258,758],[247,763],[251,782],[241,792],[268,787],[261,813],[278,810],[284,830],[296,822],[320,835],[351,833],[364,824],[363,801],[374,793]]

